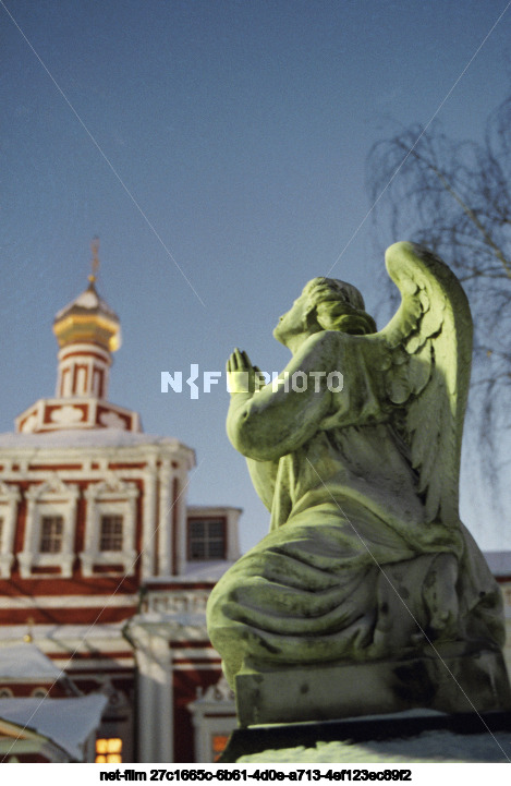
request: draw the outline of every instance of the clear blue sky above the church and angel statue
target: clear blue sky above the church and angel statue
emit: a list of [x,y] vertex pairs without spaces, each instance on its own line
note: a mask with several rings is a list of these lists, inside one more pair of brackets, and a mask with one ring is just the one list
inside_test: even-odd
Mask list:
[[[192,401],[161,394],[160,372],[222,371],[234,346],[281,370],[271,329],[330,270],[379,313],[368,150],[436,113],[480,137],[509,90],[511,9],[471,60],[506,7],[2,0],[0,431],[53,395],[51,323],[85,288],[97,234],[98,289],[124,339],[110,399],[196,449],[190,501],[243,507],[254,544],[268,513],[224,434],[223,385]],[[511,548],[480,485],[467,455],[466,523]]]

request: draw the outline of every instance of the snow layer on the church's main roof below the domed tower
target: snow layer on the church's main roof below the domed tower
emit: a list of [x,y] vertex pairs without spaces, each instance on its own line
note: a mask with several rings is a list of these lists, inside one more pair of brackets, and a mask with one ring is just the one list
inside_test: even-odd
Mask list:
[[0,434],[0,448],[81,448],[81,447],[132,447],[135,445],[168,445],[191,450],[179,439],[155,434],[126,432],[122,428],[69,428],[42,434]]

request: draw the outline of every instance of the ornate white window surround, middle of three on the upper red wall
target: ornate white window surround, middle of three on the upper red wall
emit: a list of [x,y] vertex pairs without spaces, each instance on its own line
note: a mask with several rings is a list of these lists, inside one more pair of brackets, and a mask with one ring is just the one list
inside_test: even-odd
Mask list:
[[[54,479],[28,488],[28,500],[25,542],[23,552],[17,554],[22,579],[34,578],[32,569],[60,568],[59,573],[37,573],[37,578],[54,579],[56,576],[70,579],[73,575],[74,532],[76,523],[76,500],[80,489],[66,485],[60,479]],[[39,552],[41,539],[41,520],[45,516],[62,516],[62,549],[56,554],[41,554]]]

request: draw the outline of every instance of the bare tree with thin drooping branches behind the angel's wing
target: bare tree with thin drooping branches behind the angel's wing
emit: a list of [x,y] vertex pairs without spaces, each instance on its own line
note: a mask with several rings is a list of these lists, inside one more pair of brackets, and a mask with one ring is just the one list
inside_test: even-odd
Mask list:
[[379,233],[426,245],[463,282],[475,325],[471,407],[488,474],[503,480],[496,447],[511,430],[511,96],[482,142],[455,142],[433,124],[377,143],[367,184]]

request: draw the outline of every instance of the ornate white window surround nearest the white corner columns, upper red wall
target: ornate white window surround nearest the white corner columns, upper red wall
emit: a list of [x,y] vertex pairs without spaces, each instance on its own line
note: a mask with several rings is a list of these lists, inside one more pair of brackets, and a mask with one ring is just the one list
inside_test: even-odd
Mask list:
[[[102,483],[94,483],[85,492],[87,512],[85,517],[85,548],[80,554],[82,573],[86,578],[98,576],[119,576],[119,570],[95,572],[95,566],[121,565],[125,576],[135,572],[135,524],[136,498],[138,488],[135,483],[125,483],[113,473]],[[101,552],[100,522],[102,516],[122,516],[121,552]]]

